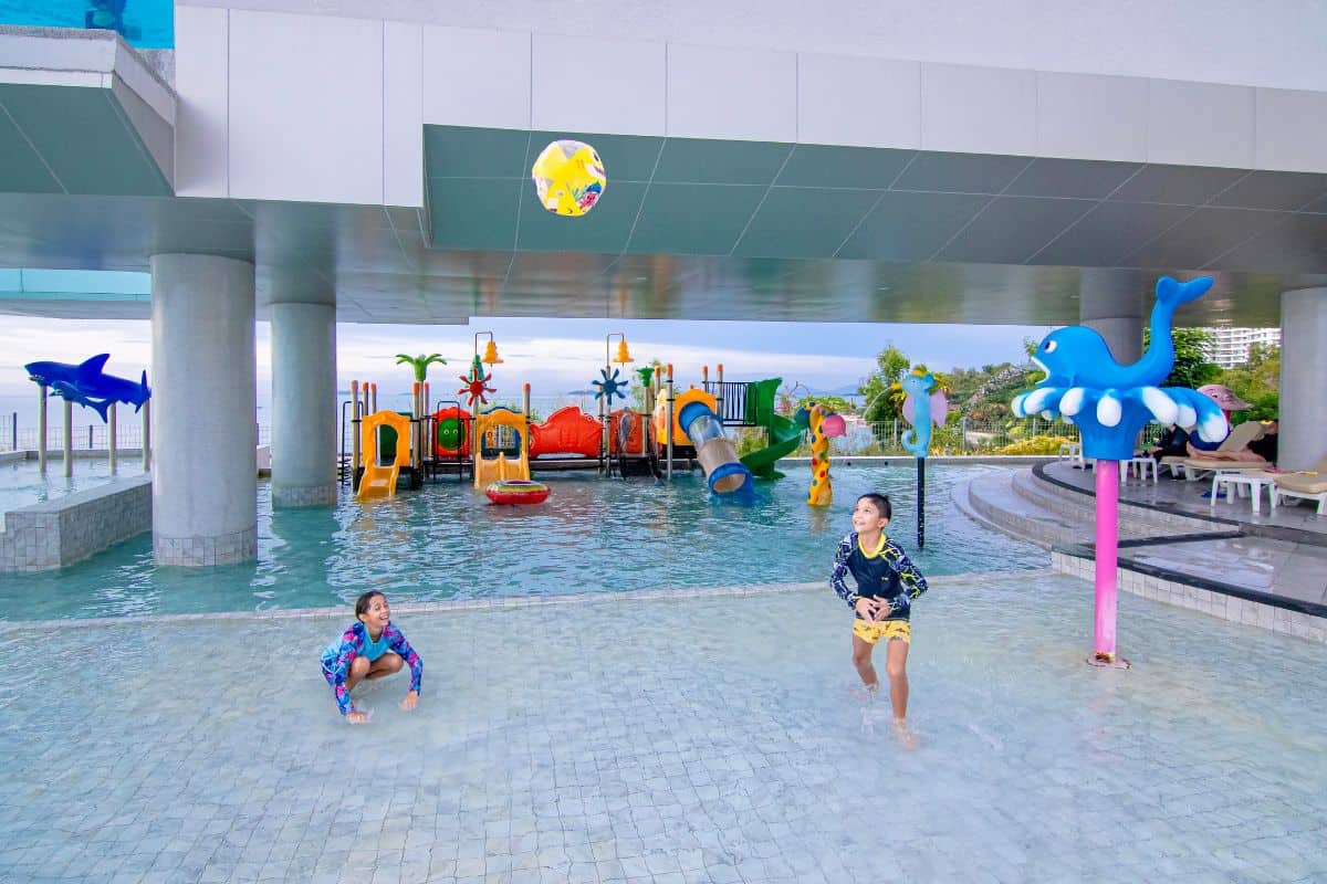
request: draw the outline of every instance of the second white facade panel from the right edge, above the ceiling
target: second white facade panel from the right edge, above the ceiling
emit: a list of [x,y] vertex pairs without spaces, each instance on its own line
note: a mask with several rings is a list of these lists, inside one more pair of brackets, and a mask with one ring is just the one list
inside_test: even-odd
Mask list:
[[1253,168],[1253,89],[1148,82],[1148,162]]

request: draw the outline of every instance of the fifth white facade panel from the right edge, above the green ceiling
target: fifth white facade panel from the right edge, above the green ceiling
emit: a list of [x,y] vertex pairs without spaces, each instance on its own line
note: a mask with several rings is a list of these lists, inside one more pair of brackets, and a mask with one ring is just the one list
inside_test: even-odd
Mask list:
[[798,56],[798,140],[853,147],[921,146],[921,64]]

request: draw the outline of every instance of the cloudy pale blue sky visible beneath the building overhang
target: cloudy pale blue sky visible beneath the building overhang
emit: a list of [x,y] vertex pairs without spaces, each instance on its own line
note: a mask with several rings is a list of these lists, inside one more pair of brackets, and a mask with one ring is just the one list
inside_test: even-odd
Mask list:
[[[441,353],[446,366],[429,371],[433,398],[450,395],[468,366],[475,333],[492,331],[504,362],[495,366],[498,399],[515,400],[529,382],[535,399],[584,390],[604,364],[605,335],[625,333],[636,363],[671,362],[683,387],[699,383],[701,367],[723,363],[726,380],[782,376],[815,392],[853,387],[876,367],[874,357],[893,343],[932,370],[1023,360],[1023,338],[1040,339],[1048,327],[808,322],[682,322],[664,319],[529,319],[475,317],[468,326],[338,325],[337,380],[378,383],[380,399],[409,394],[409,366],[395,354]],[[269,402],[271,335],[257,323],[260,410]],[[486,338],[487,339],[487,335]],[[616,338],[613,349],[616,351]],[[36,411],[36,388],[23,366],[49,359],[82,362],[109,353],[109,374],[151,383],[151,329],[147,321],[44,319],[0,317],[0,412],[19,411],[20,425]],[[76,410],[77,411],[77,410]],[[92,412],[88,412],[89,415]]]

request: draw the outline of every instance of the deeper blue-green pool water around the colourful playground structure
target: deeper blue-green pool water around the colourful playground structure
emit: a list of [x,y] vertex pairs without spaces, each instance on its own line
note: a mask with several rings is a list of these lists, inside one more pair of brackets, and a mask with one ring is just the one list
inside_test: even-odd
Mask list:
[[366,588],[394,602],[622,592],[824,580],[856,497],[894,498],[889,533],[926,574],[1035,569],[1048,555],[987,531],[953,509],[950,490],[991,467],[928,474],[928,542],[916,549],[916,473],[852,467],[835,504],[805,504],[808,468],[760,486],[752,509],[705,501],[699,473],[671,486],[541,474],[540,506],[492,506],[468,485],[437,484],[393,500],[271,508],[259,485],[259,558],[215,569],[155,567],[143,534],[58,573],[0,575],[0,616],[46,620],[340,606]]

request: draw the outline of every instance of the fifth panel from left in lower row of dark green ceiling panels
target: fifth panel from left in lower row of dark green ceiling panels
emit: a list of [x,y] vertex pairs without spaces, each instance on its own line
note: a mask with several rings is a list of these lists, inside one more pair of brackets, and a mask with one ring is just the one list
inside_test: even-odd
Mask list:
[[837,257],[925,261],[989,201],[971,193],[885,192]]

